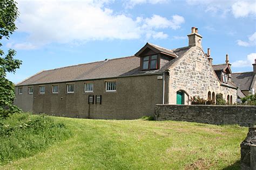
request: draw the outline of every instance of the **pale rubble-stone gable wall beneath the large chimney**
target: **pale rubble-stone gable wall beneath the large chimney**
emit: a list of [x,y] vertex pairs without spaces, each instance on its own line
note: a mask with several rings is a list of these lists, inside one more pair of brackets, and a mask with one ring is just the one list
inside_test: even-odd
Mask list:
[[186,54],[170,68],[169,104],[176,104],[176,93],[184,90],[185,104],[188,98],[200,96],[207,99],[208,91],[222,93],[225,100],[232,95],[233,103],[237,101],[237,89],[220,86],[210,62],[199,46],[190,48]]

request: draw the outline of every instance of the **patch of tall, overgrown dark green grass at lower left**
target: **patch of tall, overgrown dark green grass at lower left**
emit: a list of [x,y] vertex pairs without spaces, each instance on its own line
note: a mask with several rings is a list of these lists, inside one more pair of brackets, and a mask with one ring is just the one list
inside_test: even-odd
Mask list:
[[13,114],[0,119],[0,162],[29,157],[71,136],[62,122],[46,115]]

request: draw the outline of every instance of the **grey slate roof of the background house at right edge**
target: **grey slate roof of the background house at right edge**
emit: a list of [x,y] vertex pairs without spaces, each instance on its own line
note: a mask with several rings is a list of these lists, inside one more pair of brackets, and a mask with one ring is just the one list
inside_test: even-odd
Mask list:
[[232,81],[241,90],[250,90],[254,78],[253,72],[232,73]]

